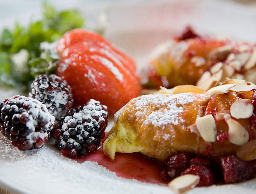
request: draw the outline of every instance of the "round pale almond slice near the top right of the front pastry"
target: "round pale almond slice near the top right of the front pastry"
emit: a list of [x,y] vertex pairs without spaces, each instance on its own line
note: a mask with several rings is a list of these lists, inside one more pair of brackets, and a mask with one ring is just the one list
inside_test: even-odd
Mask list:
[[247,119],[253,115],[253,103],[249,99],[235,101],[230,107],[230,114],[236,119]]

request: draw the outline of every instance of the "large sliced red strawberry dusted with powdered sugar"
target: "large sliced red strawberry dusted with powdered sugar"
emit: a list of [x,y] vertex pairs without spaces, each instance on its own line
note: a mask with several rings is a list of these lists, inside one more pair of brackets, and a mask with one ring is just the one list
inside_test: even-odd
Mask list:
[[72,88],[74,104],[96,99],[115,113],[141,86],[134,61],[96,33],[83,29],[67,32],[59,41],[56,74]]

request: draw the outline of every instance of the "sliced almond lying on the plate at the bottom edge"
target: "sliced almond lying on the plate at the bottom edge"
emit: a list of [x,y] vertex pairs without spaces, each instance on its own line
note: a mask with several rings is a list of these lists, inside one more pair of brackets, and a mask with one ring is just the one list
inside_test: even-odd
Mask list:
[[168,183],[168,186],[173,189],[176,193],[185,193],[199,183],[200,177],[198,175],[185,174],[176,177]]

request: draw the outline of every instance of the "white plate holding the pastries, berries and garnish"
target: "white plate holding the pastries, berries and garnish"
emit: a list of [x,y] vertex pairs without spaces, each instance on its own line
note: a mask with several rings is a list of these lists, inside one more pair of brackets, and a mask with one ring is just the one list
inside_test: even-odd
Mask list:
[[[28,22],[29,14],[38,17],[39,5],[34,3],[33,10],[22,8],[22,3],[11,1],[10,7],[16,15],[0,14],[0,27],[13,23],[21,15],[23,23]],[[34,1],[33,1],[34,2]],[[60,1],[54,2],[58,4]],[[61,7],[75,6],[88,17],[88,25],[106,7],[106,2],[92,4],[93,1],[62,1]],[[0,2],[1,3],[1,2]],[[25,4],[26,4],[25,3]],[[36,5],[35,5],[36,4]],[[6,5],[6,3],[4,4]],[[31,7],[31,4],[27,6]],[[180,32],[191,24],[198,32],[211,35],[228,35],[238,40],[256,41],[256,12],[235,3],[223,1],[150,1],[140,3],[111,1],[110,23],[106,38],[124,48],[135,58],[139,68],[145,65],[149,52],[159,42]],[[23,5],[23,8],[26,5]],[[0,13],[8,9],[1,6]],[[0,100],[18,94],[17,91],[1,89]],[[125,168],[125,167],[124,167]],[[255,193],[256,180],[245,183],[196,188],[190,193]],[[0,136],[0,187],[12,193],[172,193],[165,187],[141,183],[116,177],[95,162],[78,164],[60,156],[52,145],[29,152],[19,152],[10,142]]]

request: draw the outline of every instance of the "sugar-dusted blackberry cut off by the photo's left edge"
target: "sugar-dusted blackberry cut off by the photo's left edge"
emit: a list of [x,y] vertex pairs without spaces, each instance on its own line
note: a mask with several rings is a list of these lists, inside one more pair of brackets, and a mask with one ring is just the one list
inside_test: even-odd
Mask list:
[[14,96],[0,103],[1,133],[20,150],[40,148],[54,124],[46,106],[36,99]]

